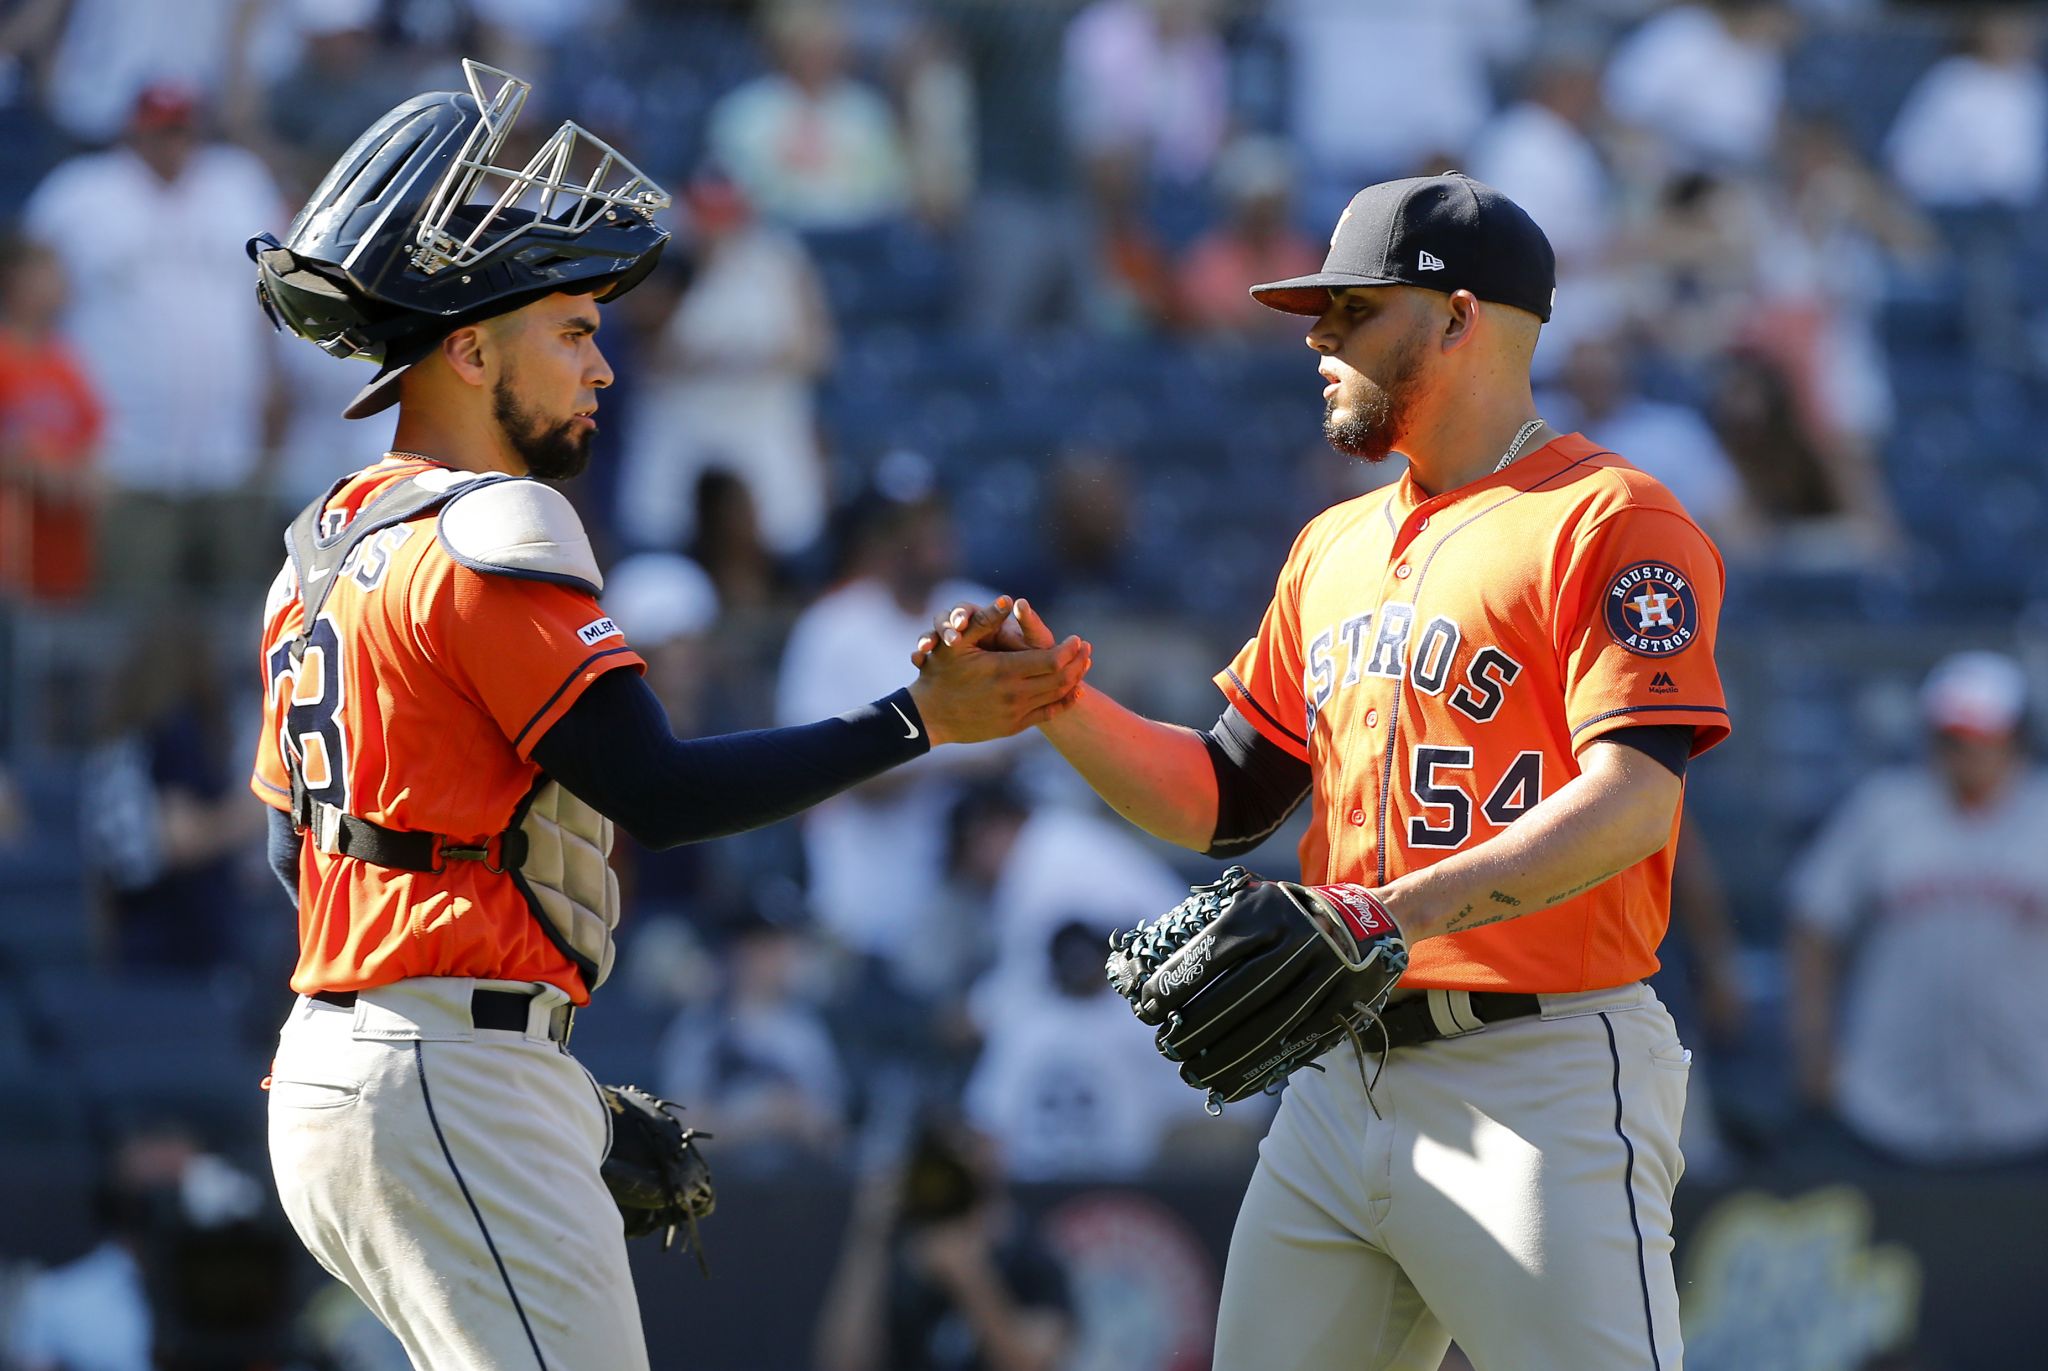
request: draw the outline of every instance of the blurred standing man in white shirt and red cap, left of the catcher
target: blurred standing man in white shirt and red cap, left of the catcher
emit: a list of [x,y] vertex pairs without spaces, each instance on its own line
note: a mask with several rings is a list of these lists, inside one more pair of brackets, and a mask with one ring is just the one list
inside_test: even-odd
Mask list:
[[281,223],[254,154],[201,135],[199,96],[150,86],[119,148],[53,170],[25,227],[63,262],[68,332],[106,404],[102,588],[162,603],[276,570],[260,494],[272,344],[242,244]]

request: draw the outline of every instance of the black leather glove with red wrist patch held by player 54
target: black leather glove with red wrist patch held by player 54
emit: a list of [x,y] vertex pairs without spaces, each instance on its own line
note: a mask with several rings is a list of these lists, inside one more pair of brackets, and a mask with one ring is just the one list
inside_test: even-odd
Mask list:
[[1110,939],[1108,973],[1208,1111],[1278,1088],[1356,1037],[1407,971],[1407,941],[1364,885],[1266,881],[1231,867]]

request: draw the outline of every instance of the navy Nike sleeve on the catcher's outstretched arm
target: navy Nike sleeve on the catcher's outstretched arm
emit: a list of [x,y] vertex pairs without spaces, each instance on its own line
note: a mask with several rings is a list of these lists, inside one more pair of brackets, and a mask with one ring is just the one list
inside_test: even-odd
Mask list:
[[897,691],[836,719],[678,740],[637,672],[604,672],[532,748],[532,760],[641,844],[725,838],[801,814],[932,750]]

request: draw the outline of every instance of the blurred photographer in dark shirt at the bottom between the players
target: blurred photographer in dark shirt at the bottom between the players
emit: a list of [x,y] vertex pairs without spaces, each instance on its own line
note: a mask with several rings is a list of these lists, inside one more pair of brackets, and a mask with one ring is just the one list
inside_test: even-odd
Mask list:
[[989,1144],[924,1127],[854,1201],[819,1371],[1055,1371],[1071,1344],[1067,1273],[1004,1197]]

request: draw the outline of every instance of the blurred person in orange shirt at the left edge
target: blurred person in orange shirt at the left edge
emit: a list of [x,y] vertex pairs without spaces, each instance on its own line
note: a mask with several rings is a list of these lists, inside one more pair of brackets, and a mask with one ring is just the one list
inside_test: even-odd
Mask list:
[[76,603],[92,588],[100,402],[57,336],[57,254],[0,240],[0,594]]

